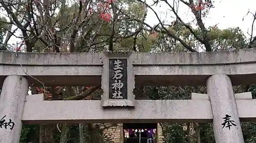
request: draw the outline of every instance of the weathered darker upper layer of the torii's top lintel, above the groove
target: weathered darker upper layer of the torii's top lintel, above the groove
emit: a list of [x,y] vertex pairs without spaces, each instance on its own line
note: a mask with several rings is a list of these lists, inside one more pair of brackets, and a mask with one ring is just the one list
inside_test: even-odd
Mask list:
[[[226,65],[255,63],[256,49],[219,52],[136,52],[134,65]],[[0,64],[27,66],[102,66],[101,53],[0,51]]]

